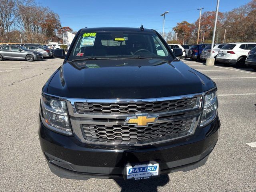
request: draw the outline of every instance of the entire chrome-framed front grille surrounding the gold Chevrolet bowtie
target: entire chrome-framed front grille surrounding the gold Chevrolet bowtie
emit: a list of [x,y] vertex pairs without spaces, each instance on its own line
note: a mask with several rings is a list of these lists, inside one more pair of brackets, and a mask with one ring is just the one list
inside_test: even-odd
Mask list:
[[[130,148],[167,142],[194,134],[202,113],[203,94],[141,100],[66,99],[78,140],[95,146]],[[157,116],[138,126],[127,121]]]

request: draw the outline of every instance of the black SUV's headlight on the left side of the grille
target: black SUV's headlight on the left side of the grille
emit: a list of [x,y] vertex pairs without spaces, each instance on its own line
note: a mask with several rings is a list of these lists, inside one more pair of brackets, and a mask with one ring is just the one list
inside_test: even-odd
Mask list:
[[56,132],[72,135],[65,101],[42,96],[43,123]]

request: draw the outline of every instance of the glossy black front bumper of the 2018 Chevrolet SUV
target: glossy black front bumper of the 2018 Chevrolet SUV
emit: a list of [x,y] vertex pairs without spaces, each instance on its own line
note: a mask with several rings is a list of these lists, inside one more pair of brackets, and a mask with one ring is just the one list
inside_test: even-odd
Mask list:
[[160,174],[202,166],[218,140],[220,121],[197,128],[194,135],[162,144],[126,150],[79,142],[46,128],[39,120],[39,138],[50,170],[70,179],[123,178],[124,165],[156,161]]

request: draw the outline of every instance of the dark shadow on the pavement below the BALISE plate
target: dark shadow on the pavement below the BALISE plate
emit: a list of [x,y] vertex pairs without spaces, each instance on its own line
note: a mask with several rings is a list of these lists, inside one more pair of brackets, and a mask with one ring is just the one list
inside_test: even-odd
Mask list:
[[157,192],[158,186],[164,186],[169,182],[168,175],[162,175],[158,178],[145,179],[145,180],[115,180],[116,183],[122,188],[121,192]]

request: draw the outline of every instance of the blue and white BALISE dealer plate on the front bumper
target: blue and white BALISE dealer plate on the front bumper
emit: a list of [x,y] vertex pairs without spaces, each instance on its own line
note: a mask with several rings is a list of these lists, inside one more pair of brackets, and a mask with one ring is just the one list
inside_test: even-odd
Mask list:
[[149,179],[159,176],[159,164],[135,164],[134,166],[126,166],[126,179]]

